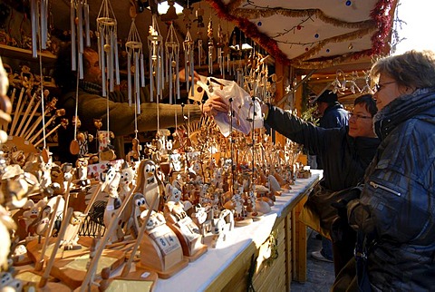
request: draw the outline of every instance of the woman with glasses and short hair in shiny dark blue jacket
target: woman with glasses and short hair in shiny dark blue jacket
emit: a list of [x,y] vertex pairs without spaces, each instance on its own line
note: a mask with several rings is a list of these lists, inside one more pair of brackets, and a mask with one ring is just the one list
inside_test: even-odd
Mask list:
[[347,204],[358,232],[358,285],[433,291],[435,278],[435,54],[411,51],[372,66],[381,139],[360,199]]

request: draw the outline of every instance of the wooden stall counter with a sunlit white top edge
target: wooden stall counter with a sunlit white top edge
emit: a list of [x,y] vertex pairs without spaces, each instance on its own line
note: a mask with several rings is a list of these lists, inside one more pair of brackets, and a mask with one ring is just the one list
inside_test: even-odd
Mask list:
[[[306,231],[297,217],[306,195],[322,177],[322,170],[312,172],[311,178],[296,180],[292,190],[276,197],[275,206],[263,219],[237,227],[221,247],[209,248],[175,276],[159,279],[156,291],[246,291],[251,261],[256,291],[272,287],[288,291],[292,277],[304,281]],[[273,230],[275,238],[268,240]],[[277,250],[277,257],[266,260],[271,245],[275,245],[272,249]]]

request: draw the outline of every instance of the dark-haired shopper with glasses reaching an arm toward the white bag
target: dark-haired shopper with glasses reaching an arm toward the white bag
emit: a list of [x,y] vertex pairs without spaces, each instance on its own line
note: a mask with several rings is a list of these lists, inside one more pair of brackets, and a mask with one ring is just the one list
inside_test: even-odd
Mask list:
[[[319,192],[355,187],[362,181],[364,171],[379,145],[372,125],[372,117],[377,108],[371,94],[355,99],[354,110],[349,113],[349,126],[342,128],[316,127],[270,104],[263,104],[262,112],[265,115],[265,124],[320,156],[324,162],[324,178],[320,187],[315,188]],[[314,209],[322,207],[314,206]],[[333,207],[327,208],[336,213]],[[328,229],[328,232],[331,223],[323,223],[321,219],[321,227]],[[333,242],[335,275],[353,258],[355,240],[355,235],[351,232],[343,236],[343,240]]]

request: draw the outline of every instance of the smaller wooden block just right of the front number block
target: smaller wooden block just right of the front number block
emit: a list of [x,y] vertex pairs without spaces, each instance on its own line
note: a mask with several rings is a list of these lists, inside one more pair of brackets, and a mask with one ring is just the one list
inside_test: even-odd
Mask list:
[[207,246],[202,244],[202,235],[199,228],[190,217],[169,224],[169,228],[177,234],[183,248],[183,254],[190,262],[197,260],[207,252]]

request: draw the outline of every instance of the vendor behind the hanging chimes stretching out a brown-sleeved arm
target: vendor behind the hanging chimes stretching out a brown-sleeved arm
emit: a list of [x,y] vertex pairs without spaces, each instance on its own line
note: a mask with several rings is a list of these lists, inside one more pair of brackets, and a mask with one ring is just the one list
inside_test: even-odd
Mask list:
[[[59,152],[61,161],[75,161],[76,156],[70,154],[69,145],[73,141],[73,125],[71,118],[75,115],[77,76],[71,69],[71,44],[64,45],[57,57],[56,67],[53,73],[56,85],[62,91],[58,107],[64,108],[66,117],[70,120],[69,131],[59,132]],[[129,106],[127,92],[110,92],[109,102],[102,97],[102,71],[99,65],[98,53],[91,48],[84,48],[83,52],[83,79],[78,84],[78,117],[82,122],[80,131],[88,131],[94,134],[93,119],[107,121],[107,106],[109,106],[110,126],[109,129],[117,137],[113,142],[117,150],[117,156],[123,157],[123,135],[133,134],[135,131],[135,110]],[[184,70],[179,73],[180,81],[185,81]],[[150,91],[140,92],[140,115],[137,116],[138,131],[155,131],[158,128],[157,110],[158,104],[150,101]],[[220,97],[213,97],[201,106],[186,104],[182,110],[180,104],[159,103],[160,128],[174,127],[177,120],[183,121],[184,115],[189,112],[191,121],[198,120],[204,113],[213,116],[217,112],[227,112],[227,105]],[[107,127],[103,125],[102,130]]]

